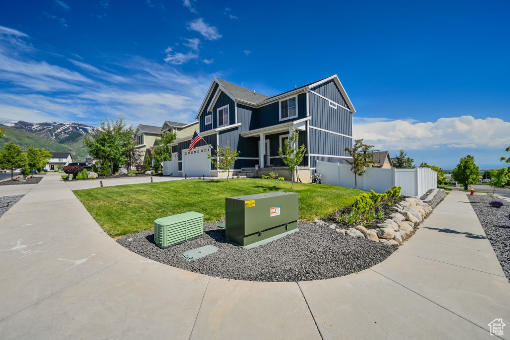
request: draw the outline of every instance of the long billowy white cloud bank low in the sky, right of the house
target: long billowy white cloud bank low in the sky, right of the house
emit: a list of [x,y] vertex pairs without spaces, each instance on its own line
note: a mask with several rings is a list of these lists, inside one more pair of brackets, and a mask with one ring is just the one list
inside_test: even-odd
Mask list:
[[492,149],[510,145],[510,122],[472,116],[417,120],[354,118],[354,138],[379,150],[427,150],[437,147]]

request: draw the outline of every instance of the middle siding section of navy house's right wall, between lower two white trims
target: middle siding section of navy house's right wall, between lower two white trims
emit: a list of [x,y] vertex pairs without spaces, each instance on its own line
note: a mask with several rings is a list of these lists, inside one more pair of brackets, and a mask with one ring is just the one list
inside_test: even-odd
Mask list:
[[346,147],[352,148],[352,138],[310,129],[310,145],[311,154],[349,156],[344,149]]

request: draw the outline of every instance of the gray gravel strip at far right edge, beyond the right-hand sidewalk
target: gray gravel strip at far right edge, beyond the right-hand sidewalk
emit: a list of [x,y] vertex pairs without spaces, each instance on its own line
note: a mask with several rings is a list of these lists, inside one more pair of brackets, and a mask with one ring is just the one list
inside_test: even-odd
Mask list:
[[[483,231],[491,242],[503,272],[510,281],[510,220],[506,217],[510,213],[510,203],[483,195],[473,195],[468,198]],[[492,208],[489,206],[491,201],[500,201],[504,205],[501,208]]]

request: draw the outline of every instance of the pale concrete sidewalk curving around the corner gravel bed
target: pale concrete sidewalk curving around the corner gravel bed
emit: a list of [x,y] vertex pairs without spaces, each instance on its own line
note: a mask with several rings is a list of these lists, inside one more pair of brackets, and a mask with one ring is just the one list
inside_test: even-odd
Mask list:
[[363,272],[226,280],[124,249],[48,174],[0,218],[0,338],[497,338],[488,324],[510,322],[510,284],[484,236],[452,192]]

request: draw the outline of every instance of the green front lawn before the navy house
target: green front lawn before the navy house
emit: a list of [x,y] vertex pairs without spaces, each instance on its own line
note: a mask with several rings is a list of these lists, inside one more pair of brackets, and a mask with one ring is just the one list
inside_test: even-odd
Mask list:
[[181,180],[74,190],[74,195],[109,235],[154,228],[159,217],[197,211],[205,221],[225,216],[225,197],[271,191],[299,193],[299,218],[313,221],[351,204],[364,192],[334,185],[294,184],[263,179]]

